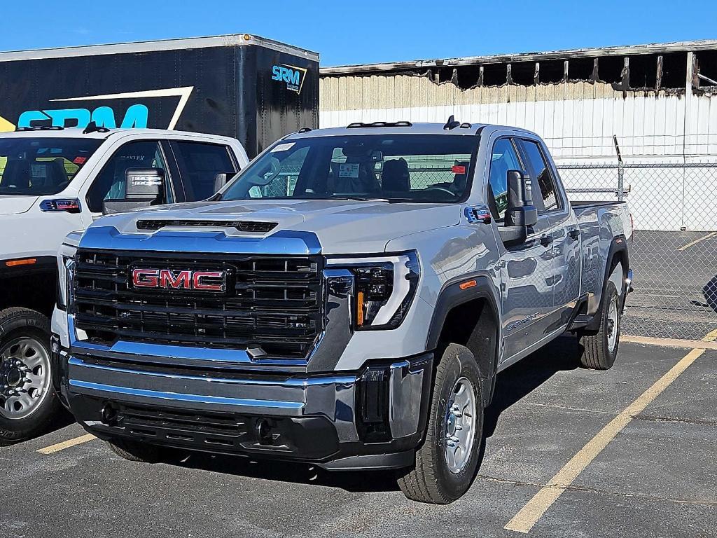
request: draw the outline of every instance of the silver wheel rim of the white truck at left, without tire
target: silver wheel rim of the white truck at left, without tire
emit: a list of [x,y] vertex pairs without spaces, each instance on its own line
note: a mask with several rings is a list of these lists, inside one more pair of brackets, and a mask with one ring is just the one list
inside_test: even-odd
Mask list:
[[49,393],[47,349],[29,336],[0,349],[0,416],[20,419],[32,414]]

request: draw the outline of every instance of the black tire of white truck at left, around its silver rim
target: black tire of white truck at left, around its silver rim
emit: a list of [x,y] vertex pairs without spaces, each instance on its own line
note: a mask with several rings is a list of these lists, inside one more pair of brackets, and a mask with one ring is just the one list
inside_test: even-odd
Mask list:
[[[19,337],[36,341],[47,351],[49,357],[50,326],[47,317],[29,308],[13,307],[0,311],[0,349]],[[16,419],[0,415],[0,446],[44,433],[57,420],[62,412],[62,405],[52,388],[53,374],[49,369],[46,389],[49,392],[30,415]],[[0,385],[4,385],[4,379],[0,379]],[[4,405],[4,402],[4,398],[0,399],[0,405]]]

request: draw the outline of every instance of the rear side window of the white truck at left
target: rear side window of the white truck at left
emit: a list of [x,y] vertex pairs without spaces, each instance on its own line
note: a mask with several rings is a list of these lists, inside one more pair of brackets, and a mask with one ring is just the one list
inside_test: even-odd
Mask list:
[[227,174],[229,179],[239,171],[229,146],[189,141],[170,141],[169,145],[179,165],[187,202],[211,197],[217,174]]

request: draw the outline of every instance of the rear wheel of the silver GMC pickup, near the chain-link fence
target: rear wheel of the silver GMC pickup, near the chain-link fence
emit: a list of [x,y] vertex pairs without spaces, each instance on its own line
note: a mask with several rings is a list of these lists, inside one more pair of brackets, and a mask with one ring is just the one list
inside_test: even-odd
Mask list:
[[[616,316],[614,322],[609,319],[610,305],[615,304]],[[600,312],[600,326],[597,332],[578,334],[582,353],[580,356],[581,364],[590,369],[607,370],[612,368],[617,357],[617,349],[620,345],[620,326],[622,318],[622,303],[617,295],[617,289],[614,283],[607,282],[603,293],[603,302]],[[615,341],[612,349],[609,345],[609,337],[611,331],[615,332]]]

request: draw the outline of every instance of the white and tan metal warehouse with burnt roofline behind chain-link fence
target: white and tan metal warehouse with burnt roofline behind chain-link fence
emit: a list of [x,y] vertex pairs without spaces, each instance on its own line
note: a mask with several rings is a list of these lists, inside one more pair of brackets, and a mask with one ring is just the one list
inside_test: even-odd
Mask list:
[[717,41],[324,67],[319,95],[322,127],[455,114],[528,128],[572,191],[604,197],[619,176],[637,228],[717,230]]

